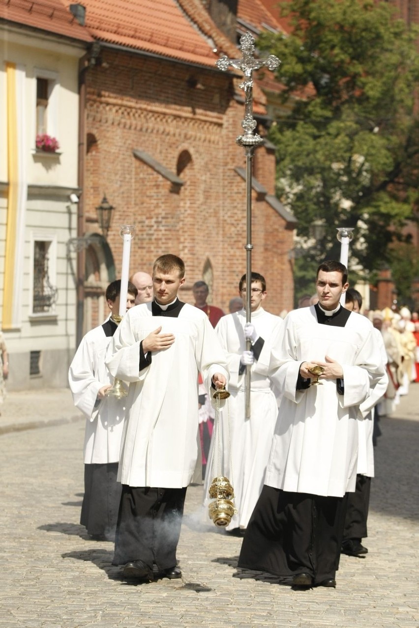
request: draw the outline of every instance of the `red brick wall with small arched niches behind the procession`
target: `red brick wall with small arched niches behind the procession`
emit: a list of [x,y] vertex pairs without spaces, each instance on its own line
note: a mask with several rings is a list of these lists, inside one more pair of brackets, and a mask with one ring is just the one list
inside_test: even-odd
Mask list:
[[[234,171],[245,166],[244,149],[235,142],[244,107],[232,98],[231,78],[116,51],[103,51],[102,60],[106,68],[87,73],[85,214],[95,215],[104,193],[116,208],[108,242],[117,276],[122,260],[119,227],[134,223],[131,273],[151,273],[157,256],[178,254],[187,268],[181,298],[193,302],[192,284],[210,264],[212,303],[228,311],[246,271],[246,185]],[[190,78],[199,86],[188,87]],[[183,185],[173,185],[134,157],[134,149],[149,153]],[[273,193],[273,151],[259,148],[255,161],[255,176]],[[97,230],[97,225],[87,226]],[[268,281],[268,310],[278,314],[291,309],[287,252],[293,234],[256,195],[253,234],[253,268]]]

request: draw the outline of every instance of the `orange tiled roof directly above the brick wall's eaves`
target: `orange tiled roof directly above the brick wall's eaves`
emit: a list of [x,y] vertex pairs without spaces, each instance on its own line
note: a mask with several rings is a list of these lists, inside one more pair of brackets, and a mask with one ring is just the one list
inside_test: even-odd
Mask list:
[[[67,4],[70,4],[67,2]],[[103,42],[215,67],[214,42],[175,0],[83,0],[85,24]]]

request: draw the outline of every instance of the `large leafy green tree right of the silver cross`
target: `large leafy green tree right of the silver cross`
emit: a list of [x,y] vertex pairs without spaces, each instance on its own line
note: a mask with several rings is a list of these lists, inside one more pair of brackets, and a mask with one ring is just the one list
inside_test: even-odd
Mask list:
[[[350,266],[371,277],[391,264],[391,243],[403,241],[418,205],[419,31],[374,0],[290,0],[282,11],[291,35],[264,33],[258,46],[282,62],[276,75],[288,114],[269,139],[278,197],[299,221],[297,274],[339,259],[335,228],[355,227]],[[325,235],[314,246],[318,220]]]

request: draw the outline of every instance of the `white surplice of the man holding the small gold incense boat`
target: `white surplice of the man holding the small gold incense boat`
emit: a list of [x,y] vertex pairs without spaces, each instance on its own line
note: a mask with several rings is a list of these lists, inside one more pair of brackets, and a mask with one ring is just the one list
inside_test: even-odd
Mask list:
[[[296,390],[300,365],[325,362],[328,355],[343,369],[344,394],[336,380]],[[342,497],[355,489],[359,410],[384,376],[373,325],[351,313],[345,327],[321,325],[314,306],[285,318],[278,346],[275,378],[282,401],[269,455],[265,484],[289,492]]]

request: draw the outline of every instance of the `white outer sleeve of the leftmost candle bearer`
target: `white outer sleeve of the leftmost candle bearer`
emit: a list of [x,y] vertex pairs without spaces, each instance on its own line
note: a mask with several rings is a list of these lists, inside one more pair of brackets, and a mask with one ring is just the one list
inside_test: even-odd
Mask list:
[[74,405],[90,421],[94,421],[99,411],[100,404],[96,404],[97,393],[102,386],[109,383],[99,382],[95,376],[93,350],[94,345],[84,337],[68,370],[68,384]]

